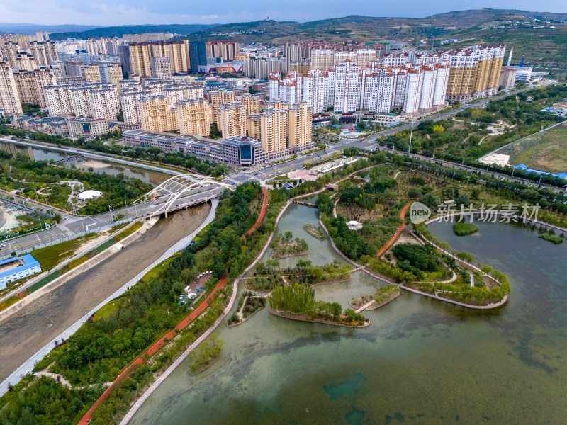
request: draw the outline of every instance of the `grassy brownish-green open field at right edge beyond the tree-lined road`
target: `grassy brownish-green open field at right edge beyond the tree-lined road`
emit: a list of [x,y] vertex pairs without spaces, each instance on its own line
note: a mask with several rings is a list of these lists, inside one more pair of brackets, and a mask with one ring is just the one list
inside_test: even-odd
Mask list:
[[550,173],[567,172],[567,123],[526,137],[501,151],[510,155],[510,164]]

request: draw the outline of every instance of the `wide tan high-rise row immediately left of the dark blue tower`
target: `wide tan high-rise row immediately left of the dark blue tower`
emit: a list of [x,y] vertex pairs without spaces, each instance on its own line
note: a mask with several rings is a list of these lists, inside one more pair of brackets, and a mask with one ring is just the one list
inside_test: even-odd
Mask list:
[[189,40],[135,42],[129,47],[132,72],[140,77],[152,75],[152,57],[169,57],[172,72],[188,72],[191,69]]

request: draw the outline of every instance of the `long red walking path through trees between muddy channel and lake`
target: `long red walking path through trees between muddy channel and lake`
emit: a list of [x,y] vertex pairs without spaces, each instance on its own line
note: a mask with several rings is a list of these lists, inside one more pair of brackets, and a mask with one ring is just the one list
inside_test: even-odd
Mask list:
[[[254,229],[256,229],[260,223],[262,222],[262,220],[264,220],[264,215],[266,215],[266,208],[268,206],[268,190],[266,188],[262,188],[262,193],[264,195],[264,200],[262,202],[262,210],[260,211],[260,216],[258,217],[257,222],[254,224],[254,226],[252,226],[251,229],[249,229],[249,231],[247,232],[247,234],[252,233],[254,231]],[[244,238],[244,236],[242,236],[242,238]],[[210,277],[210,276],[209,276]],[[208,280],[208,278],[206,279]],[[206,280],[203,280],[202,283],[205,283]],[[126,376],[128,376],[130,374],[130,372],[132,372],[133,368],[135,368],[135,366],[137,365],[141,365],[142,363],[144,363],[144,358],[150,358],[151,356],[154,355],[154,353],[156,351],[159,350],[159,348],[162,347],[162,344],[166,344],[167,341],[169,341],[170,339],[172,339],[174,337],[175,331],[176,329],[179,329],[181,331],[181,329],[184,329],[189,323],[191,323],[199,314],[201,314],[209,305],[210,302],[213,300],[213,298],[215,297],[216,293],[223,289],[223,287],[225,286],[226,283],[226,275],[223,276],[222,279],[220,279],[218,285],[216,285],[215,289],[213,290],[212,293],[210,293],[210,295],[206,298],[206,300],[204,300],[203,302],[201,302],[201,305],[199,305],[196,310],[194,310],[193,312],[191,312],[191,314],[189,314],[189,316],[187,316],[185,319],[183,319],[183,321],[178,324],[176,327],[174,327],[174,329],[172,329],[171,331],[169,331],[167,333],[167,335],[165,335],[162,339],[160,339],[159,341],[157,341],[153,346],[150,347],[150,349],[148,349],[144,354],[142,354],[142,356],[140,356],[139,358],[137,358],[133,363],[131,363],[130,365],[128,365],[128,368],[125,368],[125,370],[123,371],[123,373],[120,373],[120,375],[118,375],[118,378],[116,378],[116,380],[114,380],[114,382],[112,382],[112,385],[108,388],[106,388],[106,391],[103,392],[103,394],[101,395],[101,397],[99,397],[98,400],[96,400],[96,402],[93,404],[93,406],[89,409],[89,412],[86,412],[86,414],[83,416],[83,419],[81,419],[79,421],[78,425],[86,425],[88,424],[91,419],[92,419],[92,414],[94,412],[94,409],[96,409],[96,407],[99,406],[99,404],[101,404],[101,402],[103,402],[104,399],[106,399],[108,397],[108,395],[110,395],[111,391],[112,391],[112,387],[116,384],[118,384],[118,382],[120,382],[121,380],[123,380]]]

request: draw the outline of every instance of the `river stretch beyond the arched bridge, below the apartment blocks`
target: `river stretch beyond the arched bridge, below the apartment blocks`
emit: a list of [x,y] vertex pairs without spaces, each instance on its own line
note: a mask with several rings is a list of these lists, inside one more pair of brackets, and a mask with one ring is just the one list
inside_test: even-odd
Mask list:
[[[61,159],[74,156],[72,154],[66,154],[64,152],[58,152],[51,149],[26,147],[25,145],[16,145],[13,143],[5,142],[0,142],[0,149],[6,152],[10,152],[11,154],[26,154],[28,157],[33,159],[33,161],[50,161],[50,159],[53,159],[54,161],[60,161]],[[96,163],[96,165],[93,166],[94,173],[106,173],[112,176],[123,173],[125,176],[140,179],[141,181],[145,181],[145,183],[151,183],[154,186],[157,186],[159,183],[162,183],[162,181],[165,181],[169,179],[169,177],[171,177],[168,174],[156,173],[154,171],[137,169],[117,164],[107,164],[104,162],[94,161],[92,159],[86,159],[86,161],[84,162],[77,162],[74,164],[78,169],[83,169],[84,171],[86,171],[89,166],[91,166],[91,162]],[[82,164],[84,164],[84,166],[82,166]],[[65,164],[65,166],[71,166],[71,164]]]

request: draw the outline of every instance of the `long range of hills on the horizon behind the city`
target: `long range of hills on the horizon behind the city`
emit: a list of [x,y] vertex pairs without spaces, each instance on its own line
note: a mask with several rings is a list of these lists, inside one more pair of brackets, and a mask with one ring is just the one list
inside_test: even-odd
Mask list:
[[[532,18],[548,18],[555,28],[533,28]],[[520,26],[507,22],[524,21]],[[505,26],[505,28],[498,28]],[[366,42],[379,40],[405,40],[420,50],[440,47],[444,38],[461,38],[460,43],[443,48],[473,44],[504,43],[515,47],[514,62],[526,55],[526,64],[556,66],[567,64],[567,13],[529,12],[502,9],[477,9],[440,13],[426,18],[375,18],[371,16],[345,16],[310,22],[254,21],[222,25],[162,25],[118,26],[86,30],[83,32],[55,33],[52,40],[69,37],[86,38],[121,37],[123,34],[171,32],[191,35],[200,40],[235,40],[264,42],[279,46],[283,42],[301,40],[327,42]],[[427,44],[419,45],[419,40]]]

